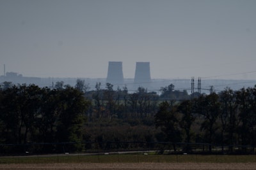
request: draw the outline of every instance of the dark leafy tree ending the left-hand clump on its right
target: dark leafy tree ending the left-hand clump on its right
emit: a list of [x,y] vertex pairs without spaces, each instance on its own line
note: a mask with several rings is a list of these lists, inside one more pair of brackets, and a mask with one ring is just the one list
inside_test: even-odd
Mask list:
[[86,120],[85,112],[88,103],[83,93],[74,88],[67,88],[59,92],[60,115],[57,124],[58,142],[76,142],[74,150],[82,150],[83,125]]

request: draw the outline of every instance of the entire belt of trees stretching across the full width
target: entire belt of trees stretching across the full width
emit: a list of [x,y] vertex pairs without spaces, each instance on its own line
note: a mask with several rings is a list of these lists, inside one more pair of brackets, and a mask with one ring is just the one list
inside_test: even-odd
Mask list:
[[92,147],[84,142],[106,141],[168,141],[174,149],[180,142],[209,143],[220,145],[223,152],[226,145],[229,152],[233,145],[255,146],[256,87],[198,97],[174,90],[172,84],[160,90],[157,94],[139,87],[131,93],[127,87],[114,90],[111,83],[104,89],[96,83],[95,90],[89,90],[83,80],[74,87],[60,81],[53,89],[4,82],[0,143],[74,142],[73,152]]

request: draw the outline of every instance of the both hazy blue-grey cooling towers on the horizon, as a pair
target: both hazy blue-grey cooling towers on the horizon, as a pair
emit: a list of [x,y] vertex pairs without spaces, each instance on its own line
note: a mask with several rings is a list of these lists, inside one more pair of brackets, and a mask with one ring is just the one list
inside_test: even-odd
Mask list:
[[[150,82],[150,63],[136,62],[136,70],[134,76],[134,83]],[[108,62],[108,76],[107,83],[123,84],[124,74],[122,62],[109,61]]]

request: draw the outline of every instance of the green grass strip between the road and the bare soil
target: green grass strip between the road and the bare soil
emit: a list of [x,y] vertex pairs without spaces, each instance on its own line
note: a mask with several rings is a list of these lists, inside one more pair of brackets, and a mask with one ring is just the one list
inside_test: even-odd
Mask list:
[[[0,164],[54,164],[54,163],[256,163],[256,155],[32,155],[0,157]],[[256,167],[255,167],[256,169]]]

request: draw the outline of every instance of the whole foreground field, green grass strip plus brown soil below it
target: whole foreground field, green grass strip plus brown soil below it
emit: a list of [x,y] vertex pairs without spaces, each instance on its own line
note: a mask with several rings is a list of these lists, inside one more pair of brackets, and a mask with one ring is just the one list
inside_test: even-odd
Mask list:
[[0,157],[0,170],[12,169],[256,169],[256,155],[29,155]]

